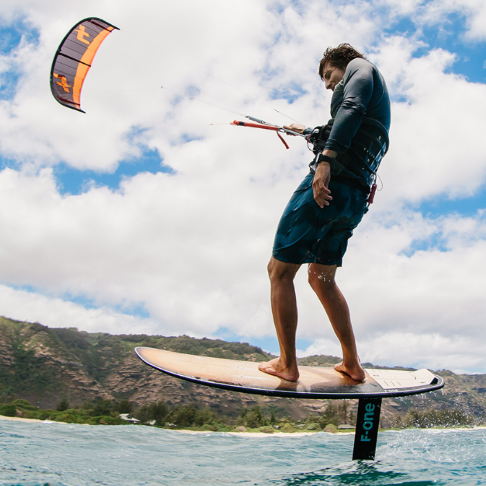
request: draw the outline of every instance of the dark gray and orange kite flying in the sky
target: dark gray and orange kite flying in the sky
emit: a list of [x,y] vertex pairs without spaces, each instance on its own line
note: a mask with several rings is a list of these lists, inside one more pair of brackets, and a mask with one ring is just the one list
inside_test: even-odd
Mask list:
[[106,36],[118,27],[101,18],[78,22],[59,45],[51,68],[51,91],[64,106],[81,111],[81,88],[94,55]]

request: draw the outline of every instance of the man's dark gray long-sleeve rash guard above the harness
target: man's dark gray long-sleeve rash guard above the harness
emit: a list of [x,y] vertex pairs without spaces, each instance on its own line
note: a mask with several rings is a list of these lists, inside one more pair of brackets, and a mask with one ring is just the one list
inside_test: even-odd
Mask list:
[[380,71],[365,59],[353,59],[331,99],[334,119],[325,149],[346,152],[363,118],[379,121],[390,129],[390,98]]

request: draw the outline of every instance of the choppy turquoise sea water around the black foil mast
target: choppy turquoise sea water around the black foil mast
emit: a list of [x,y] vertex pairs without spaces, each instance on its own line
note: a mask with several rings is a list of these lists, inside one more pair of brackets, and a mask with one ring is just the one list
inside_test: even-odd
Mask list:
[[375,461],[353,439],[1,420],[0,486],[486,484],[486,430],[380,432]]

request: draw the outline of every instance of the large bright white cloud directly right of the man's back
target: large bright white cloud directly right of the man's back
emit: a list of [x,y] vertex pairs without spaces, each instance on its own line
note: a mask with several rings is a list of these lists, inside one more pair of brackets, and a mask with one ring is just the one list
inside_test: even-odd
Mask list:
[[[398,55],[401,45],[394,46]],[[454,61],[449,52],[409,59],[402,71],[388,69],[391,59],[388,53],[382,69],[392,73],[395,95],[405,101],[392,107],[392,143],[380,174],[385,190],[388,185],[394,190],[385,197],[417,201],[441,193],[473,195],[486,176],[481,135],[486,85],[445,73]]]

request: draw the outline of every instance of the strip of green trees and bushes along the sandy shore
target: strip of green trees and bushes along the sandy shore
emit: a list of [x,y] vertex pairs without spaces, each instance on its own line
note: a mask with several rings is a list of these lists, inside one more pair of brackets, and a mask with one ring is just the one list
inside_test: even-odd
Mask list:
[[[354,434],[356,417],[349,411],[349,401],[330,402],[320,414],[309,415],[303,420],[290,417],[277,418],[274,410],[264,415],[257,405],[243,408],[234,419],[218,416],[209,407],[197,408],[191,405],[176,405],[172,408],[163,401],[135,407],[127,400],[87,400],[80,408],[70,408],[69,401],[61,399],[56,410],[43,410],[28,400],[15,399],[0,403],[0,420],[21,420],[35,422],[59,422],[87,425],[143,425],[176,430],[190,434],[220,432],[230,434],[270,435],[292,434],[294,436],[327,432],[331,434]],[[486,423],[456,410],[430,409],[409,410],[404,418],[397,417],[392,427],[381,430],[403,429],[464,429],[485,428]]]

